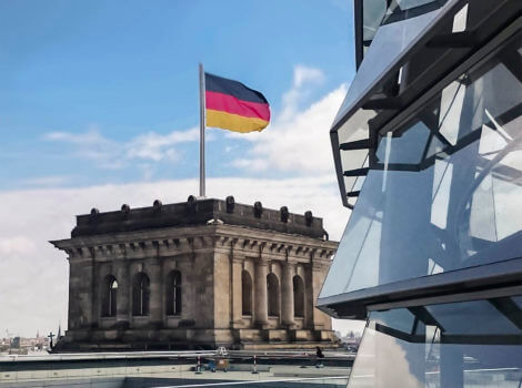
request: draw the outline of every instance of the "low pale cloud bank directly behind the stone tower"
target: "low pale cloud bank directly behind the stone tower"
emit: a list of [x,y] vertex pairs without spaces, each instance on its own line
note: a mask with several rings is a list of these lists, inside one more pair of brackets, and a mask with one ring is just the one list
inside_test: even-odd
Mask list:
[[[74,215],[185,201],[198,188],[197,180],[103,185],[86,188],[41,188],[0,193],[0,333],[34,335],[57,330],[67,323],[68,262],[48,241],[67,238]],[[338,187],[327,177],[277,180],[210,178],[208,193],[224,198],[234,195],[239,203],[279,208],[294,213],[311,210],[324,218],[332,239],[341,236],[348,211],[341,206]]]

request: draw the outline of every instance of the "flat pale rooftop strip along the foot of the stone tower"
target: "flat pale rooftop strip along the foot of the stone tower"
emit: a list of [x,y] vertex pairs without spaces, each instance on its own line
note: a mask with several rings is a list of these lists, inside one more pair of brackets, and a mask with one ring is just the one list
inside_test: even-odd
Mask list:
[[[221,361],[220,361],[221,360]],[[225,363],[223,363],[225,360]],[[347,386],[352,358],[214,353],[106,353],[0,356],[0,388],[8,387],[263,387]]]

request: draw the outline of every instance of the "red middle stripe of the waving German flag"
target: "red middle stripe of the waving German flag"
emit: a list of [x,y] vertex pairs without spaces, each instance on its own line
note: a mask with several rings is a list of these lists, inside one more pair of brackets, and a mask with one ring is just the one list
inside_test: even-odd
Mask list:
[[230,94],[205,91],[207,109],[241,115],[243,118],[258,118],[270,121],[270,105],[250,102],[234,98]]

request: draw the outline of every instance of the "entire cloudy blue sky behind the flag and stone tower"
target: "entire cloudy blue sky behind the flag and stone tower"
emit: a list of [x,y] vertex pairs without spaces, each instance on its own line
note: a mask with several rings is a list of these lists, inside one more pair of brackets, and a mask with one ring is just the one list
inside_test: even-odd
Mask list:
[[354,75],[350,3],[0,1],[0,336],[67,326],[48,241],[76,214],[198,193],[199,62],[272,108],[261,133],[208,130],[208,196],[311,210],[339,239],[329,129]]

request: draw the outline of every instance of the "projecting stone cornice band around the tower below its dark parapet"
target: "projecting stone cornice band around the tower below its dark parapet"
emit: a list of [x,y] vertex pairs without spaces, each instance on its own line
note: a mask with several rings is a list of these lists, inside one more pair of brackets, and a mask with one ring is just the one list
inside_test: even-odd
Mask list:
[[205,225],[82,236],[51,242],[69,258],[147,258],[199,252],[329,265],[338,243],[237,225]]

